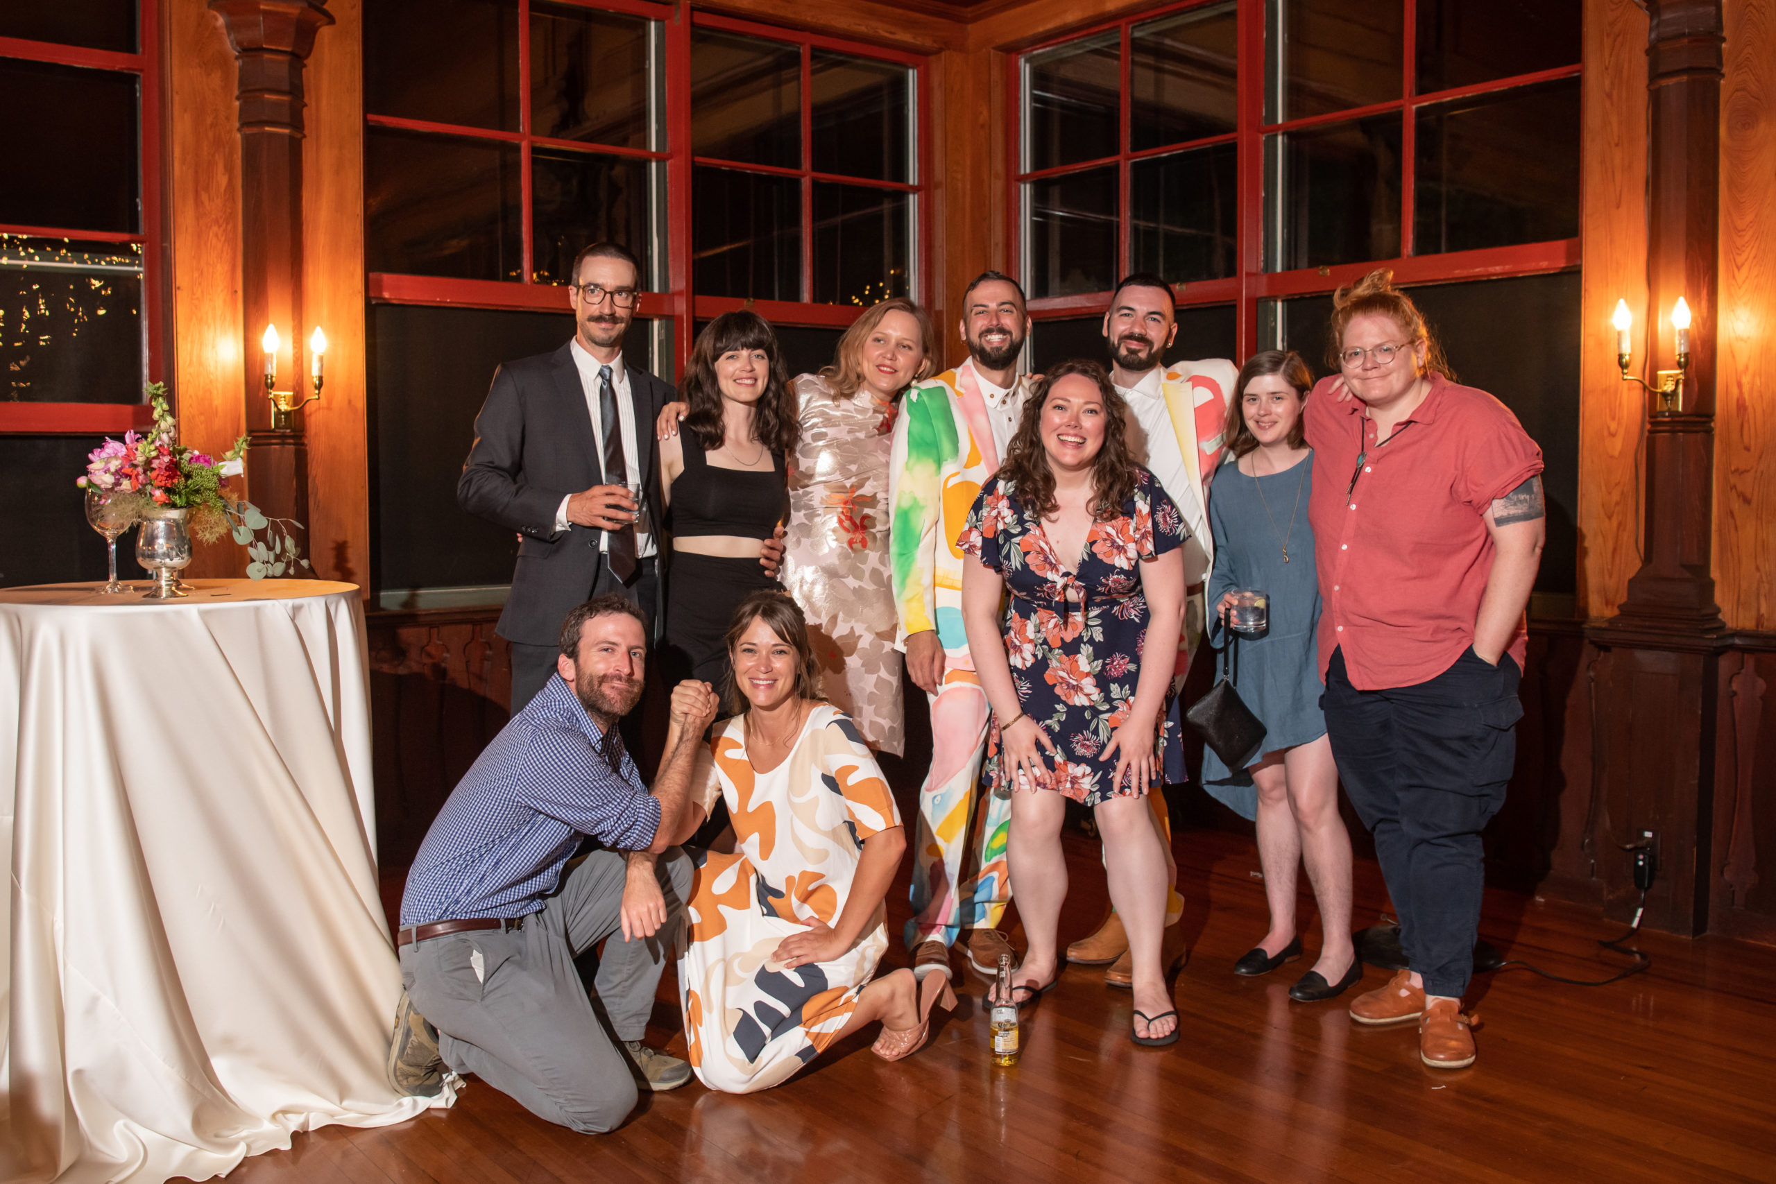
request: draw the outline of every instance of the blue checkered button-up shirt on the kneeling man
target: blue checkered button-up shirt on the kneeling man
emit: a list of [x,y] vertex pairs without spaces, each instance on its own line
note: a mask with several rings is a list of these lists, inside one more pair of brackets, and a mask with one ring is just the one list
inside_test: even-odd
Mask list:
[[538,912],[561,868],[591,834],[641,850],[661,824],[659,799],[604,733],[567,680],[554,676],[511,717],[451,790],[414,856],[401,925]]

